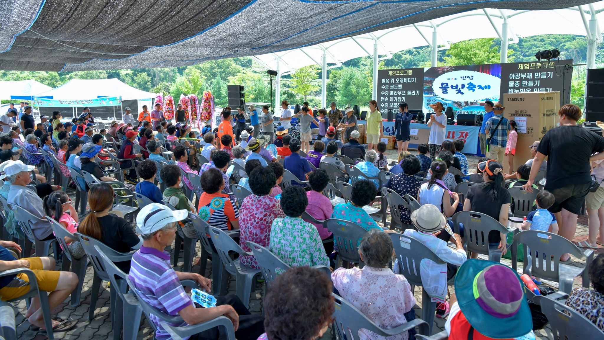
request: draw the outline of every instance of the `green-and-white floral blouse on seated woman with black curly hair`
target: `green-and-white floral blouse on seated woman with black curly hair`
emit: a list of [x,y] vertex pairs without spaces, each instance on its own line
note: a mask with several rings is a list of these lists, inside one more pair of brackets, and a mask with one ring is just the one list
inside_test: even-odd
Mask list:
[[271,252],[289,266],[329,267],[319,232],[312,224],[295,217],[275,218],[269,242]]

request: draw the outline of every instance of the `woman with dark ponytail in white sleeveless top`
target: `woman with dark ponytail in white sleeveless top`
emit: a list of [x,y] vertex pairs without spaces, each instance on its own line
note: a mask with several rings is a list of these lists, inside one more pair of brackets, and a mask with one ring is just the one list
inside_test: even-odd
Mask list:
[[449,191],[443,182],[443,176],[448,172],[447,165],[442,160],[435,160],[430,165],[429,172],[430,180],[419,188],[419,204],[434,204],[446,217],[453,216],[459,204],[459,196],[457,192]]

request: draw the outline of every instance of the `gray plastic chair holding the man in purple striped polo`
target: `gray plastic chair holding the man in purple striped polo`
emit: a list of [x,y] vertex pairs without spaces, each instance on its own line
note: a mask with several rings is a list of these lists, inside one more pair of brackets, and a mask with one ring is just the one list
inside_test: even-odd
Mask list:
[[[160,323],[162,327],[164,327],[164,329],[168,333],[178,336],[179,338],[186,338],[188,336],[193,336],[197,333],[203,332],[204,330],[213,329],[214,327],[220,327],[220,329],[224,333],[226,333],[226,340],[236,340],[235,330],[233,329],[233,322],[230,319],[226,318],[226,316],[219,316],[216,319],[201,322],[201,324],[196,325],[186,325],[183,327],[174,327],[168,325],[167,322],[173,324],[182,324],[184,320],[179,315],[167,315],[161,310],[151,306],[146,301],[144,301],[144,299],[141,298],[140,294],[138,293],[137,289],[134,288],[135,286],[132,284],[132,281],[128,276],[126,276],[126,282],[128,283],[128,286],[130,286],[130,290],[132,291],[132,293],[137,296],[138,302],[141,304],[141,308],[143,309],[143,313],[145,313],[147,319],[150,319],[150,315],[152,314],[157,316],[159,319],[161,319]],[[199,287],[198,284],[193,280],[182,280],[181,283],[182,286],[189,286],[193,288]],[[153,324],[153,322],[150,322],[150,324],[153,330],[157,331],[157,329],[155,328],[155,324]]]

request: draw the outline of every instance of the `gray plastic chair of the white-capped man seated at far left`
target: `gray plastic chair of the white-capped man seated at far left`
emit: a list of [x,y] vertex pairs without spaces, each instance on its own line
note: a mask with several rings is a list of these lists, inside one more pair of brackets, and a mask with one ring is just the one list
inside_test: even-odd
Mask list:
[[21,207],[15,206],[14,204],[8,204],[13,211],[14,219],[23,230],[25,234],[25,244],[23,247],[23,256],[29,257],[31,253],[31,246],[33,244],[36,245],[36,257],[45,257],[48,256],[50,252],[50,246],[53,245],[54,258],[55,260],[59,260],[59,245],[56,239],[51,239],[47,241],[38,240],[36,235],[34,235],[33,230],[31,230],[31,223],[45,223],[50,224],[47,220],[36,217]]

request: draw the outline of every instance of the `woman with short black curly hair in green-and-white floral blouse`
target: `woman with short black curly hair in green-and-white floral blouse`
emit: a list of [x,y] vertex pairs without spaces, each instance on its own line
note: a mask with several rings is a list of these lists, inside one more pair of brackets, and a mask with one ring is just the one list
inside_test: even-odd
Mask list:
[[316,227],[301,216],[308,199],[301,186],[290,186],[281,194],[281,209],[286,217],[277,218],[271,226],[271,252],[288,266],[329,267],[329,258],[323,249]]

